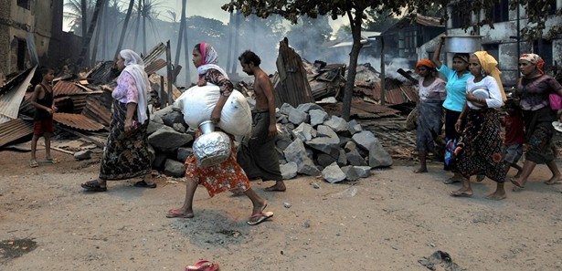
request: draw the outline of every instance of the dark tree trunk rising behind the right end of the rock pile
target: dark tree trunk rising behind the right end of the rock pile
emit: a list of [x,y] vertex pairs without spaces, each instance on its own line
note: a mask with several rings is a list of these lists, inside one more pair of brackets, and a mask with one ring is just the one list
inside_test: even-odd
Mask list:
[[349,68],[347,69],[347,80],[345,81],[344,89],[344,105],[342,109],[342,118],[349,121],[351,113],[351,99],[355,87],[355,75],[357,74],[357,59],[361,51],[361,17],[363,16],[363,9],[355,10],[355,18],[349,15],[351,23],[351,33],[353,36],[353,46],[349,54]]

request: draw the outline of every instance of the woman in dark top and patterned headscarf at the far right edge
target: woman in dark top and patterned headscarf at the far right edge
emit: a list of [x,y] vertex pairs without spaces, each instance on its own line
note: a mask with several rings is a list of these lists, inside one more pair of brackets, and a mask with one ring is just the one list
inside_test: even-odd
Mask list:
[[518,188],[525,187],[537,163],[546,163],[552,172],[552,178],[546,184],[555,184],[562,178],[551,148],[554,135],[552,122],[557,120],[557,111],[550,109],[548,99],[553,92],[562,96],[562,86],[555,78],[545,74],[544,65],[545,61],[535,54],[519,57],[519,71],[523,77],[517,82],[516,95],[523,110],[526,152],[521,175],[511,180]]

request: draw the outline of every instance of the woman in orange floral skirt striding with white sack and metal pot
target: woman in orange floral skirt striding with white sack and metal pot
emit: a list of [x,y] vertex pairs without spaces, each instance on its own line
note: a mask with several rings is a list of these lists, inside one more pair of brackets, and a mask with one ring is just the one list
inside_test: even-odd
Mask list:
[[[220,89],[220,98],[211,113],[211,120],[217,124],[220,120],[220,113],[232,93],[233,85],[228,79],[227,73],[217,66],[217,51],[210,44],[200,43],[193,49],[193,64],[199,74],[198,86],[205,86],[207,83],[216,85]],[[196,137],[200,135],[197,131]],[[250,225],[260,224],[273,216],[271,212],[263,212],[268,203],[249,187],[249,180],[246,173],[236,162],[236,148],[234,147],[234,137],[231,139],[231,151],[227,161],[208,167],[197,166],[196,158],[192,154],[186,160],[186,198],[184,204],[179,209],[168,211],[168,218],[192,218],[193,197],[196,193],[197,185],[202,184],[207,188],[209,196],[213,197],[217,193],[231,191],[233,193],[244,193],[248,196],[253,205],[252,214],[247,222]]]

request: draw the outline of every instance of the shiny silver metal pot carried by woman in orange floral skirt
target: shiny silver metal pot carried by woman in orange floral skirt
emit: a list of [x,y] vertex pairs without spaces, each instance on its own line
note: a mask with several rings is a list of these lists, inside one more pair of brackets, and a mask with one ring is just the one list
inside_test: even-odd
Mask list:
[[230,156],[230,138],[222,131],[215,131],[210,120],[199,124],[203,133],[193,142],[193,154],[199,167],[208,167],[225,162]]

